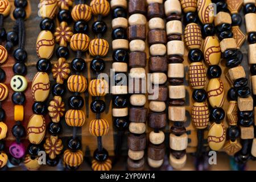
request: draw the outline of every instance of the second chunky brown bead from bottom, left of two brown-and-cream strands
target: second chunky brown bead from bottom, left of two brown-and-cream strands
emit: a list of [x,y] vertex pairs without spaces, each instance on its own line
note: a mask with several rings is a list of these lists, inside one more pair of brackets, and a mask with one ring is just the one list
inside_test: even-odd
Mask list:
[[139,151],[144,150],[147,144],[147,137],[146,134],[128,134],[127,146],[131,150]]

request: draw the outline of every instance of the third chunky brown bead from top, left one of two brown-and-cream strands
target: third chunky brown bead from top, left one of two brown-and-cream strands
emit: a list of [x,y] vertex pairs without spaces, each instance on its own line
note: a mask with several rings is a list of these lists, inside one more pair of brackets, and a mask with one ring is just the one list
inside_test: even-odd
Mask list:
[[145,52],[131,52],[129,54],[129,67],[146,67],[146,60]]

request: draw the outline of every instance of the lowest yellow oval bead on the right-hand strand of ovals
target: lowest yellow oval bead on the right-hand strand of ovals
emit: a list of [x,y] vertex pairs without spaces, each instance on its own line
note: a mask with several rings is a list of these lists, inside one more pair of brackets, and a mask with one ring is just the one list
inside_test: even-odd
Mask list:
[[209,147],[212,150],[221,150],[226,140],[226,131],[224,125],[222,123],[218,124],[213,122],[212,126],[210,126],[207,140]]

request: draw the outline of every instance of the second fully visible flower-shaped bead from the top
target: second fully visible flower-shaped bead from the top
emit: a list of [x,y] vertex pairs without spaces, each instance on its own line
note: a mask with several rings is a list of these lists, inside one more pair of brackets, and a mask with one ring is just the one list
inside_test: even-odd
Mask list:
[[57,84],[63,84],[70,73],[69,64],[65,61],[65,58],[60,57],[58,62],[53,64],[52,76],[56,79]]

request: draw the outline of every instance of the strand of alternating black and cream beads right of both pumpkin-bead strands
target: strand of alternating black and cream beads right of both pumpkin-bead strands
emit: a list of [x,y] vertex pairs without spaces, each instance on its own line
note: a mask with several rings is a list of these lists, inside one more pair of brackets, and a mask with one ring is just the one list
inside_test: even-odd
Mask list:
[[[113,48],[113,61],[112,69],[115,72],[115,78],[117,78],[117,85],[112,87],[112,103],[113,112],[128,110],[128,99],[127,99],[127,80],[120,82],[119,76],[126,76],[128,71],[127,62],[129,60],[129,42],[127,40],[127,1],[112,0],[110,1],[112,8],[112,48]],[[113,118],[114,126],[118,131],[117,146],[115,147],[115,156],[118,157],[121,153],[123,133],[128,127],[128,113],[124,114],[123,117]]]

